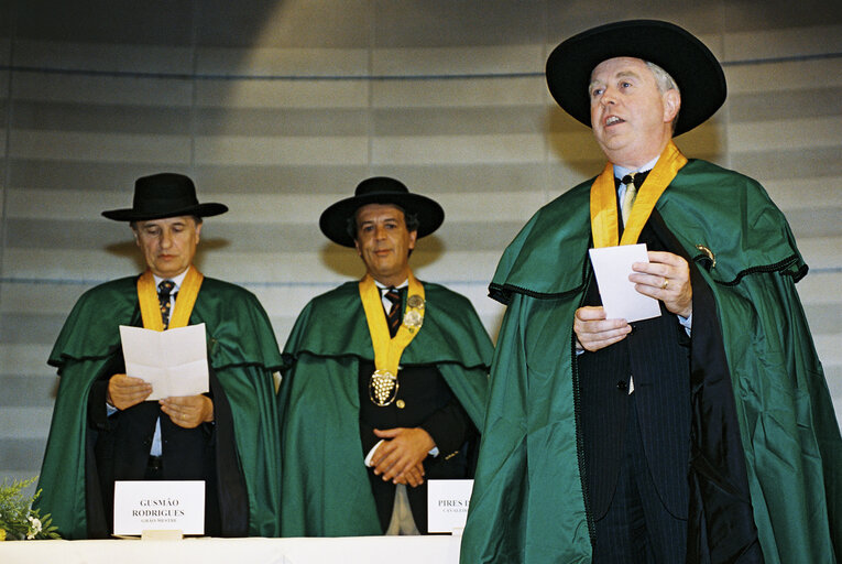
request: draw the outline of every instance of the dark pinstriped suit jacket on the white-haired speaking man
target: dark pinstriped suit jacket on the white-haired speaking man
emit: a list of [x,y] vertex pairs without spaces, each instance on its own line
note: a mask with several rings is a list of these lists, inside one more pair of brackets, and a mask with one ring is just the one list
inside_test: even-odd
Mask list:
[[[639,237],[663,250],[648,224]],[[584,305],[600,305],[592,279]],[[632,324],[622,341],[577,358],[580,425],[588,499],[594,519],[611,505],[626,433],[630,376],[646,460],[667,510],[686,519],[690,455],[690,361],[685,328],[660,304],[661,315]]]

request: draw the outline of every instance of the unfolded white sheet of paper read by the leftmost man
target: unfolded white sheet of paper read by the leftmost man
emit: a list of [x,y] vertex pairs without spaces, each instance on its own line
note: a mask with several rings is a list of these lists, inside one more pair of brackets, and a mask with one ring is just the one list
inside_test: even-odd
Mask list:
[[120,340],[125,373],[152,384],[146,401],[209,390],[204,323],[165,332],[120,325]]

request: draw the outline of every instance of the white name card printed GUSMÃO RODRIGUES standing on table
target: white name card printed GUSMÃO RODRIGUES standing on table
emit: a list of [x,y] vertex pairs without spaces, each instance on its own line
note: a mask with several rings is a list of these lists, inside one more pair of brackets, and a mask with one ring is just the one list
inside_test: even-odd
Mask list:
[[144,530],[205,534],[205,482],[114,481],[114,534]]

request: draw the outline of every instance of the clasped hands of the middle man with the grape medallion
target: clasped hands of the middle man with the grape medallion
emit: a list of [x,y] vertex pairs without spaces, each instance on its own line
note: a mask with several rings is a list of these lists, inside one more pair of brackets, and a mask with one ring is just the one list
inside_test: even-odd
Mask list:
[[374,474],[382,475],[383,481],[404,482],[413,487],[423,484],[422,463],[436,446],[429,433],[420,427],[395,427],[383,431],[375,429],[374,434],[386,440],[371,459]]

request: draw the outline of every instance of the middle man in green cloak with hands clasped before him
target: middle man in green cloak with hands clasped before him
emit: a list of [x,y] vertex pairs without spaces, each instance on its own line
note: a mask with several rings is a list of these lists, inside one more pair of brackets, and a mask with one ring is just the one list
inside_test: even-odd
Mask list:
[[491,341],[466,297],[409,268],[444,218],[385,176],[321,214],[367,273],[307,304],[284,348],[284,536],[423,534],[427,480],[472,475]]

